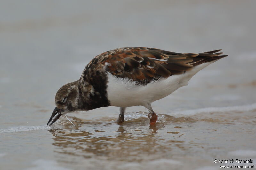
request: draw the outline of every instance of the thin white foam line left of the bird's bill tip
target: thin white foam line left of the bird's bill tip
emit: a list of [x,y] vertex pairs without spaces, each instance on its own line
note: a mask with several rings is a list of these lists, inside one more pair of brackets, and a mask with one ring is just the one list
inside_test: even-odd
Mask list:
[[45,129],[50,129],[50,127],[49,126],[17,126],[17,127],[7,128],[7,129],[0,129],[0,133],[45,130]]

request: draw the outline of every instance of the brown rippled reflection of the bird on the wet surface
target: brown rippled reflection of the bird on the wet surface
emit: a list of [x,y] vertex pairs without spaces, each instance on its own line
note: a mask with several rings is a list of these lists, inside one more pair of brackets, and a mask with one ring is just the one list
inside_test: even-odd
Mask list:
[[[53,136],[52,144],[57,146],[57,153],[86,158],[105,156],[107,159],[140,161],[143,157],[139,155],[164,155],[171,152],[172,144],[177,146],[184,143],[177,140],[179,134],[165,133],[164,127],[164,123],[149,126],[148,121],[124,125],[86,123],[75,129],[68,125],[50,129],[49,133]],[[169,137],[164,136],[165,134]]]

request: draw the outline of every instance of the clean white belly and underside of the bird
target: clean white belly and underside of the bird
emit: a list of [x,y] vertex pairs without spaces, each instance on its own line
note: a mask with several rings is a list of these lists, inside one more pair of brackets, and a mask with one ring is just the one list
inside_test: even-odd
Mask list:
[[162,99],[178,88],[187,85],[193,75],[210,63],[212,62],[203,63],[184,74],[172,75],[160,81],[152,81],[147,85],[136,85],[136,82],[128,78],[117,78],[107,73],[108,100],[111,106],[117,107],[146,106],[147,103]]

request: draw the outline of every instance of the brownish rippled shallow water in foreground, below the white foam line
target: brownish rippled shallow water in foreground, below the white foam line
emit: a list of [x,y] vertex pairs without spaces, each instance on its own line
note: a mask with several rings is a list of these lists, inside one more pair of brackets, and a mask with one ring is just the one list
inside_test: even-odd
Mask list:
[[[32,169],[44,169],[48,164],[53,164],[53,169],[194,169],[206,165],[217,168],[212,163],[216,156],[255,160],[256,103],[184,113],[187,115],[158,114],[159,120],[153,126],[149,125],[147,113],[130,112],[122,125],[115,122],[115,117],[71,117],[75,127],[61,118],[52,127],[2,129],[0,134],[5,140],[1,146],[5,149],[1,165],[11,169],[18,166],[8,163],[8,155],[20,160],[21,167],[28,167],[33,160]],[[7,150],[10,144],[15,147]],[[36,152],[30,155],[31,150]],[[26,158],[22,158],[24,154]],[[42,159],[42,155],[46,158]]]

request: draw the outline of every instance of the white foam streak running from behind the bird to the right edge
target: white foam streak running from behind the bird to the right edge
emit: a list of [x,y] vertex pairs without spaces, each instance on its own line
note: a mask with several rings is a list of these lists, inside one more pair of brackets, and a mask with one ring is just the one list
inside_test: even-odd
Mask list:
[[172,115],[195,115],[201,113],[212,113],[212,112],[248,112],[256,109],[256,103],[251,105],[242,106],[228,106],[228,107],[208,107],[194,110],[184,110],[172,113]]

